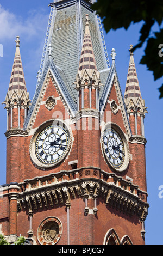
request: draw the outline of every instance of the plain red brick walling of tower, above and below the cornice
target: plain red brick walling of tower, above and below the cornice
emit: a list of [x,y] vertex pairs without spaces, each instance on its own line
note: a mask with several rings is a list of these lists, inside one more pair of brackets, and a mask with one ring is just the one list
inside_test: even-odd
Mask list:
[[[89,102],[89,91],[85,90],[87,93],[87,101]],[[43,97],[43,101],[47,100],[48,96],[59,97],[57,90],[54,87],[52,80],[49,81],[48,87],[45,92],[45,96]],[[81,97],[80,97],[81,98]],[[95,97],[92,92],[92,104],[95,105]],[[115,86],[112,86],[111,93],[109,96],[109,100],[115,100],[118,105],[117,95],[115,91]],[[17,109],[14,109],[17,111]],[[62,103],[61,99],[57,100],[57,104],[55,105],[52,111],[48,111],[45,108],[45,105],[41,105],[39,112],[36,115],[33,129],[39,127],[46,120],[57,118],[55,115],[56,112],[61,113],[61,117],[63,119],[70,118],[67,111],[65,110],[65,106]],[[111,115],[111,119],[107,119],[106,113]],[[13,112],[16,114],[16,112]],[[23,114],[23,113],[22,113]],[[58,117],[60,118],[60,117]],[[131,118],[131,117],[130,117]],[[14,117],[14,124],[17,122],[16,116]],[[21,117],[22,120],[22,117]],[[33,179],[37,176],[48,175],[50,173],[57,173],[61,170],[71,170],[71,165],[68,164],[69,161],[74,161],[78,159],[78,168],[81,167],[99,167],[105,172],[112,173],[113,170],[110,168],[108,163],[105,161],[103,156],[102,147],[100,144],[101,130],[93,129],[88,130],[90,127],[91,120],[89,118],[83,118],[85,121],[86,130],[80,129],[77,131],[74,129],[74,125],[71,124],[73,139],[72,139],[72,147],[70,153],[66,157],[66,159],[59,164],[59,166],[55,166],[51,169],[40,170],[35,167],[32,161],[30,160],[29,155],[29,144],[32,135],[27,137],[10,137],[7,139],[7,182],[23,182],[26,179]],[[121,127],[124,133],[126,133],[126,129],[124,127],[122,113],[121,110],[118,109],[118,113],[115,115],[111,112],[110,105],[107,103],[105,108],[105,114],[103,120],[111,121],[116,123]],[[132,118],[130,119],[132,120]],[[98,119],[92,119],[92,127],[95,127]],[[134,126],[134,120],[133,124]],[[131,121],[131,122],[132,122]],[[78,121],[79,122],[79,121]],[[22,121],[21,121],[22,123]],[[79,124],[79,127],[81,128]],[[138,122],[138,127],[140,129],[140,123]],[[142,190],[146,190],[146,169],[145,169],[145,147],[142,144],[137,143],[129,143],[130,153],[132,155],[132,160],[130,161],[129,167],[123,173],[115,172],[117,175],[122,176],[126,179],[126,175],[133,178],[134,184],[140,186]],[[93,176],[93,168],[91,169],[90,175]],[[83,176],[82,176],[83,178]],[[14,202],[12,202],[14,203]],[[89,200],[90,208],[93,208],[93,200]],[[15,206],[13,206],[14,209]],[[137,217],[129,217],[126,215],[120,214],[116,210],[112,210],[109,206],[106,206],[104,202],[98,201],[98,214],[95,215],[87,215],[84,216],[84,208],[85,203],[82,198],[74,199],[71,202],[70,208],[70,241],[72,245],[102,245],[104,236],[106,232],[110,228],[114,228],[118,237],[120,239],[124,235],[128,235],[133,241],[134,244],[143,244],[143,240],[141,238],[140,230],[141,225]],[[12,212],[13,214],[13,212]],[[9,216],[9,214],[8,214]],[[12,215],[10,221],[12,221]],[[60,206],[54,209],[44,209],[43,211],[39,210],[38,212],[34,212],[33,216],[33,229],[34,236],[36,236],[37,228],[44,218],[47,216],[55,216],[60,219],[63,225],[63,233],[61,239],[58,242],[58,245],[66,245],[67,244],[67,214],[65,206]],[[13,219],[14,220],[14,219]],[[14,225],[13,225],[14,228]],[[7,230],[7,225],[5,227]],[[27,232],[29,230],[29,220],[28,220],[28,210],[21,211],[17,215],[17,235],[20,233],[23,236],[27,236]],[[134,230],[134,232],[133,232]],[[14,231],[14,230],[13,230]]]

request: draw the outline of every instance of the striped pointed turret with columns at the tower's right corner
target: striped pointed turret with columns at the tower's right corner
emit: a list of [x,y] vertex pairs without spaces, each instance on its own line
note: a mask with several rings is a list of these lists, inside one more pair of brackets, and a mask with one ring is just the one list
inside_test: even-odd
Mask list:
[[130,45],[130,61],[126,82],[126,89],[124,93],[124,102],[126,104],[130,126],[133,135],[140,135],[144,137],[144,118],[145,113],[148,113],[145,107],[145,101],[142,99],[139,81],[137,78],[133,45]]

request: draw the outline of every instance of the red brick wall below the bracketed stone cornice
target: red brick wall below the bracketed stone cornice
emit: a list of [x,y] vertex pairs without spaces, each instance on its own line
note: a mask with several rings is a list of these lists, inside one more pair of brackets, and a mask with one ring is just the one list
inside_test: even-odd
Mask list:
[[[90,209],[93,208],[92,202],[88,204]],[[136,216],[126,216],[106,206],[102,200],[97,201],[97,216],[93,214],[85,216],[84,208],[85,203],[82,198],[71,201],[70,245],[103,245],[105,234],[111,228],[116,231],[120,240],[124,235],[128,235],[134,245],[144,245],[144,240],[141,237],[141,223]],[[59,218],[63,226],[62,236],[57,245],[67,245],[67,212],[65,206],[36,212],[32,220],[34,236],[37,235],[40,223],[50,216]],[[21,233],[21,235],[26,236],[28,230],[27,212],[20,212],[18,214],[17,234]]]

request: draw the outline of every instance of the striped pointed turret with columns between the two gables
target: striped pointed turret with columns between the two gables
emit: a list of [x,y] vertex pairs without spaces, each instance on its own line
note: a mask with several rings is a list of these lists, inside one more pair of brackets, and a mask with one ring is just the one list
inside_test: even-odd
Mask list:
[[[89,15],[86,14],[85,34],[83,48],[79,62],[78,74],[76,76],[76,89],[78,91],[78,111],[85,108],[99,110],[98,94],[101,86],[99,72],[97,71],[95,56],[93,53]],[[81,99],[80,99],[81,98]]]

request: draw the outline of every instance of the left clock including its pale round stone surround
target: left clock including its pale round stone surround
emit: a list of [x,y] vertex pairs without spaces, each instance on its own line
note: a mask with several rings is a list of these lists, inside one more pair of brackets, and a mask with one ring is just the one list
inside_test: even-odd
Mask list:
[[51,124],[32,139],[30,156],[40,167],[49,168],[65,158],[70,149],[70,131],[63,125]]

